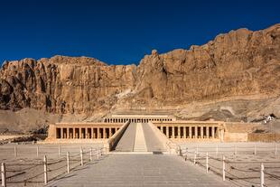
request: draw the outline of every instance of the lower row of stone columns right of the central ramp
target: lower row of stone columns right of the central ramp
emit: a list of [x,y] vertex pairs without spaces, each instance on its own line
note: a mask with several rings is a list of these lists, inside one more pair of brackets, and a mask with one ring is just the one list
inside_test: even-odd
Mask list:
[[189,139],[205,139],[205,138],[220,138],[219,125],[159,125],[157,126],[161,132],[168,138],[189,138]]

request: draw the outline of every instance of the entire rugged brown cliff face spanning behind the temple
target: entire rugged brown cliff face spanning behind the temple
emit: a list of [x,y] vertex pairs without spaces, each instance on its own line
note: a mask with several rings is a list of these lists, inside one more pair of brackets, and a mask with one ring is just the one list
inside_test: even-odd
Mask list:
[[190,50],[152,51],[138,66],[64,56],[5,61],[0,108],[96,114],[117,107],[178,107],[243,95],[275,97],[279,82],[280,24],[275,24],[219,34]]

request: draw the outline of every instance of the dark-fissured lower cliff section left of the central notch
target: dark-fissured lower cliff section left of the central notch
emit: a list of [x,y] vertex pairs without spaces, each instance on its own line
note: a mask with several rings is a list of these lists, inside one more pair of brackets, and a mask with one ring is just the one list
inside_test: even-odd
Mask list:
[[135,69],[86,57],[5,62],[0,71],[0,107],[53,113],[108,110],[117,93],[134,87]]

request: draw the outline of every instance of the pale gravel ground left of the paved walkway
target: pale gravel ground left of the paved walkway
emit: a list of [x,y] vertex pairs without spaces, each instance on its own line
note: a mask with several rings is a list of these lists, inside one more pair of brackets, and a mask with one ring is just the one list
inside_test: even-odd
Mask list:
[[[14,147],[16,147],[16,156]],[[48,181],[58,179],[67,173],[67,152],[70,153],[70,172],[81,169],[80,147],[83,149],[83,167],[85,167],[98,161],[97,148],[103,145],[0,145],[0,163],[5,163],[7,186],[42,186],[44,155],[47,156]],[[92,148],[92,162],[89,162],[90,148]]]

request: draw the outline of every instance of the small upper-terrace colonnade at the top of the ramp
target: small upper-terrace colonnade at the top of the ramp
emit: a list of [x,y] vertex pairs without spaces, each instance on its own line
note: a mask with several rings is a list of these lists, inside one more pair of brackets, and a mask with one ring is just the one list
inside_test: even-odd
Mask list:
[[163,121],[173,121],[172,118],[169,117],[127,117],[127,118],[116,118],[116,117],[110,117],[105,118],[105,123],[126,123],[126,121],[129,121],[131,123],[148,123],[149,121],[152,122],[163,122]]

